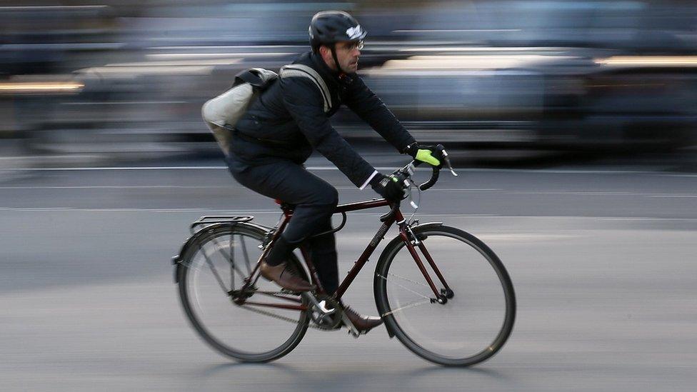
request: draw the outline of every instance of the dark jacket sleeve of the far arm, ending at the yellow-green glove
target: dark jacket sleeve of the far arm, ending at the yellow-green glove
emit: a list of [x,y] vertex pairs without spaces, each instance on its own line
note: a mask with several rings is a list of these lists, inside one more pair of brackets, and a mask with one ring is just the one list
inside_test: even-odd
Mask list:
[[383,101],[363,83],[363,79],[353,76],[348,92],[344,99],[346,106],[349,106],[397,151],[403,153],[406,146],[416,141],[390,109],[387,109]]

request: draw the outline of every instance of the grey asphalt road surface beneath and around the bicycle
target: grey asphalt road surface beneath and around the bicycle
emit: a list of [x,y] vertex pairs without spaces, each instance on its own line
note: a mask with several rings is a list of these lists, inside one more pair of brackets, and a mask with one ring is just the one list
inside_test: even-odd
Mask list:
[[[341,202],[373,197],[326,161],[309,166]],[[422,222],[481,238],[516,288],[510,340],[467,369],[423,361],[383,328],[309,331],[275,363],[231,362],[189,327],[169,259],[199,216],[273,224],[272,201],[217,163],[25,171],[0,183],[0,390],[692,391],[697,175],[596,169],[463,170],[421,195]],[[340,271],[380,213],[349,215]],[[376,313],[373,267],[346,297],[363,313]]]

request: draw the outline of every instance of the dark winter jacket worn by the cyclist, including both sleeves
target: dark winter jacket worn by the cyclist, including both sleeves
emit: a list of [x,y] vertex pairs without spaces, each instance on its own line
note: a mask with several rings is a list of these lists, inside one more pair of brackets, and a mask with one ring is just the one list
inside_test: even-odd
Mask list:
[[[329,123],[346,104],[398,151],[414,142],[385,104],[356,74],[331,70],[317,54],[306,53],[293,64],[317,71],[331,94],[325,111],[320,89],[304,77],[274,81],[236,124],[231,151],[243,164],[260,165],[290,159],[302,164],[316,149],[334,163],[356,186],[365,186],[375,169],[354,151]],[[241,135],[240,135],[241,134]]]

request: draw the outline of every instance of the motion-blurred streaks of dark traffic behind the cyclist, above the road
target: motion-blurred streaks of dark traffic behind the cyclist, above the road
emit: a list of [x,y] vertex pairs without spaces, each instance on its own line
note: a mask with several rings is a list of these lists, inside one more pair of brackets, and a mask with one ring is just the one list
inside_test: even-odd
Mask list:
[[0,1],[3,155],[219,156],[201,104],[308,50],[321,9],[368,30],[360,74],[417,140],[515,158],[697,139],[693,1],[30,0]]

